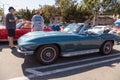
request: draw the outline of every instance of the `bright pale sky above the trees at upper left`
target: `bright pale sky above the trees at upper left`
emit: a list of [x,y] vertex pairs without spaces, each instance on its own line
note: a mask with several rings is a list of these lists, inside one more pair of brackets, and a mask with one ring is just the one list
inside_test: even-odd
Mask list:
[[19,9],[38,9],[39,5],[54,5],[54,0],[0,0],[0,8],[3,8],[5,14],[8,13],[9,6],[13,6],[16,10]]

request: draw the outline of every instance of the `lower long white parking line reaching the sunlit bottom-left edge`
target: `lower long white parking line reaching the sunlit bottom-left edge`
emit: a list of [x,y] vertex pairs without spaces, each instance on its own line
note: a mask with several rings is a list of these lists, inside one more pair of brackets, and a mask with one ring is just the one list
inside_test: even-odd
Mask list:
[[50,74],[55,74],[55,73],[59,73],[59,72],[74,70],[74,69],[83,68],[83,67],[89,67],[89,66],[92,66],[92,65],[97,65],[97,64],[111,62],[111,61],[116,61],[116,60],[120,60],[120,57],[113,58],[113,59],[108,59],[108,60],[104,60],[104,61],[99,61],[99,62],[95,62],[95,63],[89,63],[89,64],[84,64],[84,65],[72,66],[72,67],[68,67],[68,68],[56,69],[56,70],[44,72],[42,74],[37,74],[37,75],[36,74],[32,74],[32,75],[29,75],[27,77],[23,76],[23,77],[13,78],[13,79],[9,79],[9,80],[29,80],[30,78],[46,76],[46,75],[50,75]]

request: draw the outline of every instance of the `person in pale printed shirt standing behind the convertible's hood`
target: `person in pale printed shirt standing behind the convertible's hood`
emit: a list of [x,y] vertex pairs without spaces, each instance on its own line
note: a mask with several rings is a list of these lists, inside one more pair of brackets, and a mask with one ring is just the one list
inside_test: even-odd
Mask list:
[[33,31],[42,31],[44,27],[44,19],[41,16],[41,11],[36,11],[35,15],[32,17],[32,28]]

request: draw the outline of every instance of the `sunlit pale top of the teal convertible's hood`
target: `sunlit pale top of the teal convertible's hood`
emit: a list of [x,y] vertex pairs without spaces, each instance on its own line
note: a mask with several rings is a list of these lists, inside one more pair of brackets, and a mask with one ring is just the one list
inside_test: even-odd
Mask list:
[[20,37],[20,39],[24,40],[32,40],[32,39],[38,39],[38,38],[56,38],[56,37],[73,37],[75,34],[73,33],[65,33],[60,31],[35,31],[35,32],[29,32],[23,36]]

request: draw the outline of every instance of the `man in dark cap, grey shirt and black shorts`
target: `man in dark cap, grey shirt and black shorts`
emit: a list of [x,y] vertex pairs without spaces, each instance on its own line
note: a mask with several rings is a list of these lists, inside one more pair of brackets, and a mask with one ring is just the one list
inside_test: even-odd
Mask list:
[[8,32],[8,41],[9,41],[9,47],[15,48],[14,43],[13,43],[13,38],[15,36],[15,29],[16,29],[16,20],[13,15],[15,12],[14,7],[9,7],[8,9],[9,13],[6,15],[6,29]]

